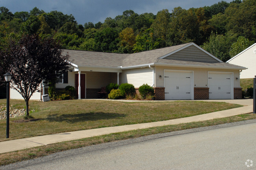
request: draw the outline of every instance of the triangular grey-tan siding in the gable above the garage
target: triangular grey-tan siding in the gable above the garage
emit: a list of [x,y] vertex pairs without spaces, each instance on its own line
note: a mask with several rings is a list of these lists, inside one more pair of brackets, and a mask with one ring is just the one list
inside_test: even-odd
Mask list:
[[204,51],[198,49],[195,46],[189,46],[172,55],[165,57],[165,59],[171,60],[184,60],[184,61],[199,61],[199,62],[219,62],[210,55],[204,53]]

